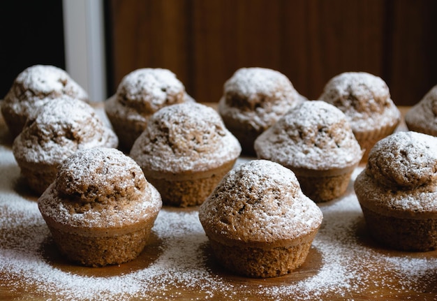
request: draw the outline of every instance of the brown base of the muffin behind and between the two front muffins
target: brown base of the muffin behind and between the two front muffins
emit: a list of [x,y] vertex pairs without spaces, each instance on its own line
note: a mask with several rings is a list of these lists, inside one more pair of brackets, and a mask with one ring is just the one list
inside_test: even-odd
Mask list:
[[146,179],[161,193],[164,205],[188,207],[202,204],[218,182],[231,170],[236,160],[229,161],[214,170],[167,175],[159,178],[145,172]]

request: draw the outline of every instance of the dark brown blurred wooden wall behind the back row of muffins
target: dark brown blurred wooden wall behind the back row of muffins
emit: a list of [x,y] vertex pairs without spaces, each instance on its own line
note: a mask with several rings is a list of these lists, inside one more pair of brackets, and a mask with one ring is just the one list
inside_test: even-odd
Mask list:
[[110,94],[143,67],[170,69],[199,102],[248,66],[310,99],[344,71],[380,76],[397,105],[437,85],[434,0],[111,0],[107,12]]

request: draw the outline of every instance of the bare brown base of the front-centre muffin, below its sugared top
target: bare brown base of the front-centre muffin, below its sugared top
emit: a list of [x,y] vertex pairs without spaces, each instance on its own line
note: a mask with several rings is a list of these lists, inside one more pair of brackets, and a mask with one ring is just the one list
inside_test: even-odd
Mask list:
[[304,263],[312,240],[291,247],[227,246],[209,240],[214,255],[228,270],[253,278],[277,277],[288,274]]

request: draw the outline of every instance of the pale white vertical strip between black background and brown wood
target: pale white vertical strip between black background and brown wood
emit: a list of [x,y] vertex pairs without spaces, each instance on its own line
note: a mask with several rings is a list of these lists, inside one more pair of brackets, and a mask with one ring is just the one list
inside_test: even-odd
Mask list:
[[106,98],[103,0],[63,0],[66,71],[89,94]]

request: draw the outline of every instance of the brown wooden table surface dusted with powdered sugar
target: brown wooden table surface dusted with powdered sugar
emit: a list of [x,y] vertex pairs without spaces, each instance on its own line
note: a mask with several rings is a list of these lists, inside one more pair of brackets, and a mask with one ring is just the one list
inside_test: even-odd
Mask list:
[[39,216],[37,196],[22,184],[11,145],[0,120],[0,300],[437,300],[437,251],[375,244],[353,182],[345,196],[320,204],[323,226],[309,256],[283,277],[250,279],[223,270],[197,207],[163,207],[149,245],[129,263],[68,263]]

